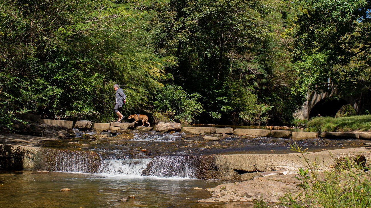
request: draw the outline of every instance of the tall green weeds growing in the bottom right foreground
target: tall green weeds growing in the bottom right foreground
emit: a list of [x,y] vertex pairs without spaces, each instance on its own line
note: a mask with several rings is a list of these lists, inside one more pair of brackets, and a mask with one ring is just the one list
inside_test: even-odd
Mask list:
[[371,207],[370,175],[359,158],[351,160],[345,158],[339,161],[331,155],[335,161],[335,167],[324,173],[318,172],[316,161],[311,162],[305,158],[301,147],[296,144],[292,150],[300,152],[306,161],[306,170],[298,171],[298,194],[288,194],[281,198],[285,207],[292,208],[367,208]]

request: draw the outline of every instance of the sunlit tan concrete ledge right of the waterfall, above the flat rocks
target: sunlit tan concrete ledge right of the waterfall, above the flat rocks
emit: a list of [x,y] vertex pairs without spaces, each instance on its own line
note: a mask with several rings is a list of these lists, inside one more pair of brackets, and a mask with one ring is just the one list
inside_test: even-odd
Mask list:
[[[301,132],[308,133],[308,132]],[[330,155],[331,152],[333,155]],[[316,161],[319,171],[332,170],[334,167],[334,158],[348,157],[351,159],[352,155],[364,155],[365,158],[370,158],[371,151],[369,148],[349,148],[338,149],[331,151],[320,152],[306,152],[305,158],[310,161]],[[236,170],[253,174],[261,174],[271,170],[286,169],[292,172],[298,169],[306,169],[305,158],[299,153],[287,154],[231,154],[231,155],[216,155],[215,165],[220,172],[221,180],[241,180],[244,174],[239,174]],[[367,165],[369,165],[369,161]]]

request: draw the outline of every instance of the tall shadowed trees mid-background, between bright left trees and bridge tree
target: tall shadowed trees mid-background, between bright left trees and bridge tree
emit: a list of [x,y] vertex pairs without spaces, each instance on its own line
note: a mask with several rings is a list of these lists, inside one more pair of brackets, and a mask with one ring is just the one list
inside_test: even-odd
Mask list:
[[289,54],[280,37],[288,2],[174,0],[157,11],[157,51],[178,58],[168,68],[171,82],[201,95],[201,122],[291,120],[297,102],[290,101]]

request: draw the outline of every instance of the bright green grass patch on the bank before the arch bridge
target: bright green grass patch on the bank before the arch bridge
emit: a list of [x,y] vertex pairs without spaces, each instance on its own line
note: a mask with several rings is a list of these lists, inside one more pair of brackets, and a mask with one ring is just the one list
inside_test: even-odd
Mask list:
[[368,131],[371,129],[371,115],[355,115],[339,118],[314,117],[308,121],[306,128],[311,132]]

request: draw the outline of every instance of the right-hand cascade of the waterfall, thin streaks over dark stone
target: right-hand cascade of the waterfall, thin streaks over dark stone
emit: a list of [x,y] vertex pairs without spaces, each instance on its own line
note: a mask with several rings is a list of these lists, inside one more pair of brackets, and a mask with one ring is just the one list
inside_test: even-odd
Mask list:
[[165,155],[154,157],[142,175],[196,178],[196,162],[192,156]]

